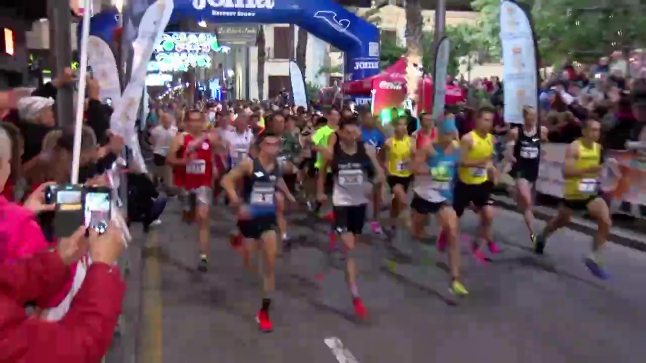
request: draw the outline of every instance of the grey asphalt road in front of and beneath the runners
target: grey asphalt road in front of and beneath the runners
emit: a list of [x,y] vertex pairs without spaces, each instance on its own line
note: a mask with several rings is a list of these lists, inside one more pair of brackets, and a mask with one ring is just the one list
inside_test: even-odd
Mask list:
[[[260,333],[254,320],[260,285],[225,236],[231,215],[214,211],[211,270],[200,275],[196,232],[179,224],[174,205],[169,209],[145,247],[141,362],[641,363],[646,357],[646,254],[609,244],[610,280],[602,282],[582,262],[590,236],[572,230],[557,232],[547,254],[537,257],[521,216],[499,210],[495,239],[503,253],[479,265],[463,243],[470,295],[457,304],[446,300],[444,256],[434,247],[424,246],[428,258],[413,262],[408,233],[397,236],[396,251],[375,247],[382,238],[368,234],[359,289],[370,319],[357,322],[324,224],[297,214],[290,223],[297,246],[277,262],[274,331]],[[476,224],[466,213],[466,238]]]

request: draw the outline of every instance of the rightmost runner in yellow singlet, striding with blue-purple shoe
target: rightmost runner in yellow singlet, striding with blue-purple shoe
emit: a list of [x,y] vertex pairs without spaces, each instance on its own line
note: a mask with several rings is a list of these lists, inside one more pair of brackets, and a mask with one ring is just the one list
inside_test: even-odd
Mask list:
[[[563,203],[558,214],[550,220],[536,238],[534,252],[543,254],[545,242],[550,234],[570,223],[574,211],[587,211],[597,220],[597,234],[592,244],[592,253],[585,259],[590,272],[601,279],[608,278],[601,264],[599,254],[610,233],[612,220],[608,204],[599,196],[599,172],[605,167],[601,145],[597,142],[601,135],[601,123],[597,119],[587,119],[583,125],[583,137],[568,145],[565,150],[563,166]],[[617,161],[609,159],[605,164],[617,167]]]

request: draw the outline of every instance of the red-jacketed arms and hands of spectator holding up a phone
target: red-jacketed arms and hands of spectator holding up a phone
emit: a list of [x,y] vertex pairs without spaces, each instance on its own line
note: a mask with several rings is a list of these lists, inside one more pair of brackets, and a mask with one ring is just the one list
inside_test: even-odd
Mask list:
[[[32,318],[28,302],[51,298],[71,275],[69,265],[89,249],[90,265],[67,314],[57,322]],[[121,313],[125,284],[114,262],[123,250],[121,229],[101,236],[79,227],[53,251],[0,265],[0,361],[98,363],[107,352]]]

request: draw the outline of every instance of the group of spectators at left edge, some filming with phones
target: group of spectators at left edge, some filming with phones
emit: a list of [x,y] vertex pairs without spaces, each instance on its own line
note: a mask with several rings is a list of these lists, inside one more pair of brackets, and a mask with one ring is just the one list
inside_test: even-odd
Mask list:
[[[65,70],[52,83],[0,92],[0,360],[99,362],[105,355],[125,285],[115,265],[123,225],[105,234],[79,225],[54,238],[55,204],[45,189],[70,182],[74,130],[59,119],[57,90],[72,87]],[[106,172],[123,149],[109,130],[112,109],[87,80],[79,182],[107,185]],[[129,165],[136,171],[136,165]],[[134,172],[136,174],[136,172]]]

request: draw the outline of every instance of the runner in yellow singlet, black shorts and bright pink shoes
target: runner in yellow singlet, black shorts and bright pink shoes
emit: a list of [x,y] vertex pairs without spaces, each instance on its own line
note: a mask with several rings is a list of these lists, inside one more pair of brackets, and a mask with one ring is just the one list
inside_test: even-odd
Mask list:
[[494,112],[493,107],[481,107],[477,112],[475,129],[462,137],[458,180],[453,191],[453,209],[458,217],[471,203],[480,216],[480,227],[472,243],[472,252],[479,262],[485,262],[485,254],[477,241],[480,236],[491,253],[500,252],[493,241],[494,206],[490,200],[498,174],[493,164],[494,136],[491,134]]

